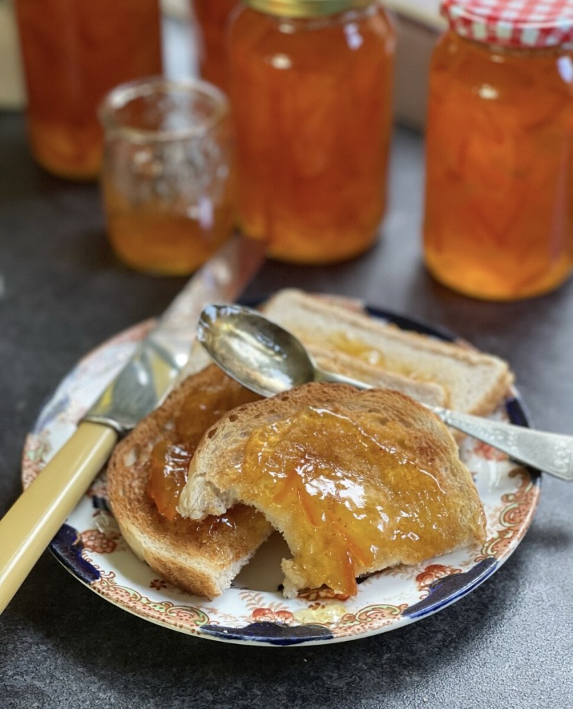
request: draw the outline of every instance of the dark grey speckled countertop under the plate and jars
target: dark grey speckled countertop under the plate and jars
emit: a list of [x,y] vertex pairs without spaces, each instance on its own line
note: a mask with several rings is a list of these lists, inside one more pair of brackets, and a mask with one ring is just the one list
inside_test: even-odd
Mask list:
[[[81,355],[160,313],[183,279],[110,255],[98,189],[52,178],[23,119],[0,114],[0,514],[20,491],[25,433]],[[266,264],[249,287],[360,296],[442,325],[511,362],[540,428],[573,432],[573,282],[521,303],[453,294],[420,258],[422,140],[395,133],[390,211],[368,254],[331,267]],[[322,647],[198,640],[106,603],[45,552],[0,617],[3,709],[573,705],[573,484],[545,476],[521,545],[458,603],[400,630]]]

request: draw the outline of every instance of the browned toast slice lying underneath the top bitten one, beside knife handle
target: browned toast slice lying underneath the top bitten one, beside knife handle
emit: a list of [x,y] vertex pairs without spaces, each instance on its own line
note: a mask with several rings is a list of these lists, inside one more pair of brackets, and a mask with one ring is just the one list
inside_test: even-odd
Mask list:
[[150,459],[157,444],[189,446],[191,438],[191,457],[198,435],[194,432],[186,440],[179,440],[176,420],[181,412],[200,419],[203,413],[195,403],[210,389],[220,388],[222,382],[223,388],[228,387],[231,392],[229,396],[223,394],[218,404],[221,413],[226,411],[225,402],[237,401],[242,387],[212,365],[183,381],[163,406],[115,447],[107,471],[111,508],[133,552],[166,581],[208,598],[230,586],[271,533],[271,525],[254,508],[242,505],[200,524],[178,516],[169,520],[157,510],[147,493],[147,484]]

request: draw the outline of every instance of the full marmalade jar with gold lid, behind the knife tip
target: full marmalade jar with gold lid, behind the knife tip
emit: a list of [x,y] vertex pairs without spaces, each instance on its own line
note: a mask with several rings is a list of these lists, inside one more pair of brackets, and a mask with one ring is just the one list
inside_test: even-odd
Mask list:
[[268,255],[334,262],[386,203],[392,23],[372,0],[244,0],[230,32],[244,233]]

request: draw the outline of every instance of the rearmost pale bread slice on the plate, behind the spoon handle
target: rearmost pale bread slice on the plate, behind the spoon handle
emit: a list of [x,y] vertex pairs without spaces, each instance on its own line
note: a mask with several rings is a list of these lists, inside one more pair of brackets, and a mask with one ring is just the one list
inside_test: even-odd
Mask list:
[[[263,311],[299,337],[310,352],[327,350],[336,371],[359,378],[361,372],[353,372],[352,362],[361,362],[397,376],[398,382],[441,386],[446,406],[455,411],[491,413],[513,381],[508,364],[499,357],[401,330],[359,312],[356,303],[347,307],[328,296],[284,289],[265,303]],[[424,396],[414,398],[424,401]]]

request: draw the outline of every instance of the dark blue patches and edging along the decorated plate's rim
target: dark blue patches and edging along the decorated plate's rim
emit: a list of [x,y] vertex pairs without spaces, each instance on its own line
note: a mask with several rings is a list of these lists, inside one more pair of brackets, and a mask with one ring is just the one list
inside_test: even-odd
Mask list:
[[[249,303],[249,305],[250,304],[251,303]],[[448,330],[438,328],[435,325],[422,323],[407,316],[398,315],[392,311],[373,306],[365,306],[365,311],[370,316],[387,320],[390,323],[398,325],[398,327],[403,330],[411,330],[416,333],[429,335],[430,337],[436,337],[438,340],[460,342],[459,337],[453,333],[450,333]],[[103,343],[101,347],[106,347],[106,344],[107,343]],[[73,371],[74,370],[72,370],[72,372]],[[521,398],[518,396],[518,393],[515,393],[514,396],[509,396],[506,399],[504,402],[504,408],[511,423],[526,427],[529,425],[528,415],[526,414],[526,410],[523,406]],[[38,418],[34,431],[41,428],[40,422],[42,421],[44,415],[45,410],[43,410],[40,414],[40,418]],[[536,489],[539,489],[541,480],[540,472],[533,469],[528,469],[528,473],[531,475],[531,484],[535,486]],[[109,510],[105,499],[95,496],[92,498],[92,503],[94,508],[99,507]],[[533,511],[530,519],[528,520],[527,526],[531,522]],[[79,539],[78,531],[74,529],[74,527],[65,523],[55,536],[54,540],[50,543],[49,548],[58,561],[61,562],[63,566],[76,577],[76,579],[81,581],[81,583],[86,586],[91,587],[91,584],[100,578],[98,569],[90,564],[89,561],[86,561],[86,559],[82,556],[81,540]],[[378,630],[374,630],[373,632],[335,637],[331,632],[329,632],[327,625],[321,623],[285,625],[280,622],[265,620],[262,622],[247,623],[241,627],[227,627],[221,624],[212,625],[206,623],[205,625],[199,625],[193,632],[193,635],[195,635],[195,637],[205,637],[211,640],[221,640],[225,642],[272,646],[298,646],[323,642],[345,642],[348,640],[365,637],[365,635],[377,635],[380,632],[393,630],[396,627],[404,627],[404,625],[420,620],[421,618],[425,618],[428,615],[432,615],[438,610],[446,608],[446,606],[451,603],[455,603],[455,601],[460,600],[460,598],[467,596],[468,593],[486,581],[489,576],[492,576],[492,574],[499,569],[501,564],[509,558],[513,551],[514,549],[511,549],[511,552],[506,554],[506,556],[501,559],[497,559],[496,557],[484,558],[480,562],[477,562],[475,566],[468,571],[458,574],[450,574],[434,581],[429,586],[429,593],[426,598],[423,598],[418,603],[409,605],[402,611],[399,623],[390,625],[390,627],[382,627]],[[95,589],[92,588],[92,590]],[[99,595],[103,594],[99,593]],[[106,598],[106,596],[103,597]],[[106,600],[111,603],[115,603],[115,601],[110,598],[106,598]],[[115,603],[115,605],[120,605],[120,607],[123,607],[121,603]],[[133,613],[130,608],[123,608],[124,610],[128,610]],[[135,615],[140,614],[135,613]],[[159,625],[164,625],[164,627],[170,627],[174,630],[182,630],[182,632],[187,632],[181,627],[161,623],[153,618],[146,618],[146,620],[152,620],[152,622],[156,622]]]

